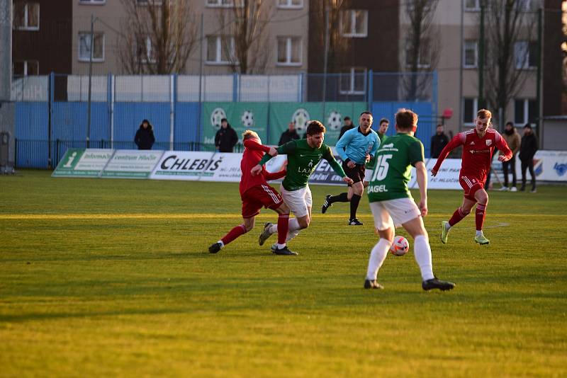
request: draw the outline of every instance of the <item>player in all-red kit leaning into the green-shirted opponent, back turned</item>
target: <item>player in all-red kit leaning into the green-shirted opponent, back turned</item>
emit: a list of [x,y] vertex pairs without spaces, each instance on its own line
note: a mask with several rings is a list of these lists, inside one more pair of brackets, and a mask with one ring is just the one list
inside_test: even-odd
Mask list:
[[217,253],[225,245],[236,239],[238,236],[246,234],[254,228],[254,220],[260,213],[262,207],[274,210],[278,213],[278,245],[277,251],[281,255],[296,255],[297,253],[289,251],[286,246],[286,237],[288,234],[289,208],[283,202],[281,195],[268,185],[267,180],[276,180],[286,176],[286,170],[276,173],[269,173],[266,167],[262,166],[262,174],[252,176],[250,171],[252,167],[257,166],[264,152],[276,156],[278,151],[274,147],[262,145],[262,141],[258,134],[252,130],[246,130],[242,134],[244,143],[244,153],[242,161],[240,161],[240,171],[242,178],[240,179],[240,197],[242,198],[242,224],[232,228],[228,234],[222,239],[214,243],[208,248],[210,253]]

